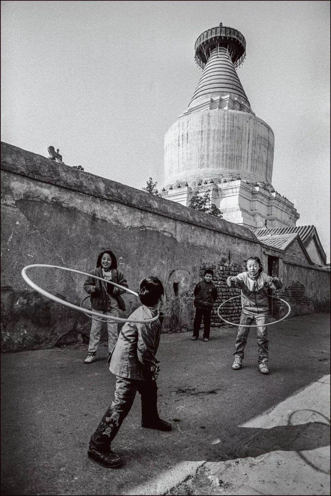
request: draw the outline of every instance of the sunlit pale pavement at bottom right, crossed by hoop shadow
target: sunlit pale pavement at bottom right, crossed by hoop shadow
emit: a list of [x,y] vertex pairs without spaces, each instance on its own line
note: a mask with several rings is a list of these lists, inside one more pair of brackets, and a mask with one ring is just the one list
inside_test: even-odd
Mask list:
[[[239,427],[255,432],[248,443],[250,456],[197,463],[166,494],[330,495],[328,416],[330,374]],[[265,452],[270,447],[273,451]]]

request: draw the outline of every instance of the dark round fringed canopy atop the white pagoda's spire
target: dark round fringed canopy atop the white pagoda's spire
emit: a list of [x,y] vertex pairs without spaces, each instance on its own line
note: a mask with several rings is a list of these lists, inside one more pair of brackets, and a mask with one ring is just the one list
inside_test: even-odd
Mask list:
[[200,34],[195,44],[195,61],[203,69],[213,49],[223,47],[230,54],[235,67],[239,67],[246,57],[246,40],[237,29],[219,26],[207,29]]

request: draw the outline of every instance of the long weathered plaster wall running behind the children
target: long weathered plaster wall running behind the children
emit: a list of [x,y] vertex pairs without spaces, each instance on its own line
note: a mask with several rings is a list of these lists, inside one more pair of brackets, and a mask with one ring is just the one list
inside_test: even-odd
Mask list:
[[[90,272],[97,253],[111,248],[131,289],[137,290],[146,275],[162,280],[167,300],[163,332],[180,332],[192,328],[193,290],[201,269],[212,266],[218,277],[218,271],[241,271],[248,254],[265,257],[258,239],[242,226],[6,143],[1,143],[1,191],[3,351],[88,340],[91,320],[31,289],[21,277],[26,265]],[[84,276],[46,268],[28,275],[71,303],[79,305],[87,296]],[[232,294],[223,282],[220,301]],[[321,284],[325,300],[326,278]],[[305,285],[310,287],[309,280]],[[122,316],[139,305],[129,294],[125,301]],[[229,309],[229,315],[236,310]]]

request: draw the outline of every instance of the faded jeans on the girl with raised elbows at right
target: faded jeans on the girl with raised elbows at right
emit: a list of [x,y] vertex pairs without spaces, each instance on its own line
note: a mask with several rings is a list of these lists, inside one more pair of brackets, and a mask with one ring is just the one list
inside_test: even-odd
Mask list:
[[[268,358],[268,331],[265,324],[267,323],[267,315],[253,315],[253,313],[241,313],[240,316],[240,324],[242,325],[251,325],[254,320],[259,327],[256,327],[257,337],[258,337],[258,347],[259,347],[259,359],[258,362],[261,364],[264,358]],[[234,355],[239,355],[241,358],[244,358],[244,349],[247,342],[248,333],[250,331],[250,327],[239,327],[238,335],[236,339],[236,351]]]

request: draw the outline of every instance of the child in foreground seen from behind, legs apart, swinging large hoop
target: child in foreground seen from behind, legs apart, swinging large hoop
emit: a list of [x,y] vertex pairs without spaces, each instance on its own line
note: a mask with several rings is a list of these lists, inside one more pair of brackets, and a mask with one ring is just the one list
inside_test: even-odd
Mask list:
[[131,410],[136,392],[141,396],[141,426],[159,431],[171,431],[169,422],[160,419],[157,412],[159,361],[156,351],[160,341],[162,317],[149,323],[133,323],[155,317],[164,301],[164,289],[157,277],[140,281],[139,299],[142,305],[135,310],[121,329],[110,358],[109,370],[116,375],[115,398],[102,417],[90,439],[88,457],[108,468],[122,465],[123,461],[110,445],[122,422]]

